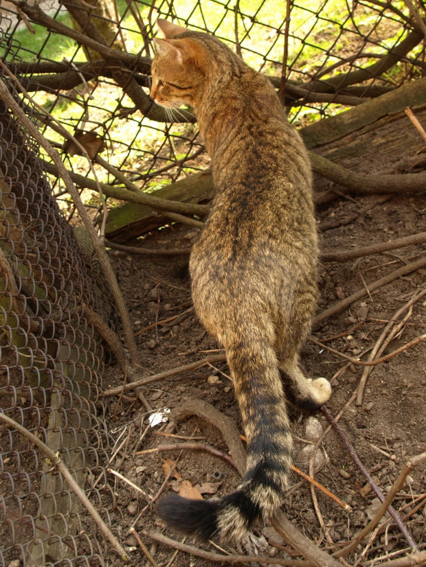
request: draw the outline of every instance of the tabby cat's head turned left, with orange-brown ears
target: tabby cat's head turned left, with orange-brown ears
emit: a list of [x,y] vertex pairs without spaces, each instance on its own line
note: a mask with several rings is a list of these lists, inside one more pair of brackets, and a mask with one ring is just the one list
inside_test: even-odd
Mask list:
[[155,38],[150,97],[166,108],[179,108],[181,104],[196,106],[208,67],[207,51],[197,36],[205,34],[190,32],[161,19],[157,25],[164,39]]

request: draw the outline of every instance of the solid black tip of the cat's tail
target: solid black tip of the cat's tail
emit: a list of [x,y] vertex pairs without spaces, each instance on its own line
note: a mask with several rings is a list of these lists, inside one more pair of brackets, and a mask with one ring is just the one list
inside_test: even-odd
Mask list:
[[168,494],[157,504],[157,514],[170,528],[208,541],[217,530],[218,500],[190,500]]

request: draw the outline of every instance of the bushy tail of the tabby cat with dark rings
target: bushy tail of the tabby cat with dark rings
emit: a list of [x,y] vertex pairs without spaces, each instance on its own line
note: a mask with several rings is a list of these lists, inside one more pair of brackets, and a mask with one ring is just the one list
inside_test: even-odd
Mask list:
[[288,487],[293,443],[276,352],[265,336],[248,335],[226,348],[247,436],[243,481],[223,498],[170,494],[157,505],[168,526],[201,540],[239,540],[256,518],[271,518]]

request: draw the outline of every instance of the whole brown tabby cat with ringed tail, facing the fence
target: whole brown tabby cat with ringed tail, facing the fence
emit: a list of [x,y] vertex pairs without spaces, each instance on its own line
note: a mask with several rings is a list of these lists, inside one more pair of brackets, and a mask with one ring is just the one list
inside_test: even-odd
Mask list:
[[317,297],[317,233],[304,145],[267,78],[224,43],[157,20],[151,98],[188,104],[212,159],[215,196],[190,257],[200,321],[226,351],[247,436],[247,471],[232,494],[212,500],[168,495],[159,516],[208,540],[243,537],[269,520],[289,485],[287,399],[315,409],[330,397],[309,380],[299,351]]

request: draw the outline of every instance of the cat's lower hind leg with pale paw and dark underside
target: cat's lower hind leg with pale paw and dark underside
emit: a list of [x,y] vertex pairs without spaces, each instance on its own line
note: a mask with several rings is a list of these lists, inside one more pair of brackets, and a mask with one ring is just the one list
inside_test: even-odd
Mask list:
[[330,399],[331,386],[326,378],[306,378],[299,366],[298,356],[281,359],[280,373],[287,398],[304,410],[316,410]]

